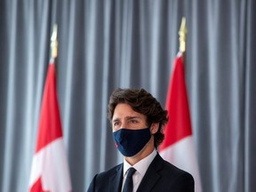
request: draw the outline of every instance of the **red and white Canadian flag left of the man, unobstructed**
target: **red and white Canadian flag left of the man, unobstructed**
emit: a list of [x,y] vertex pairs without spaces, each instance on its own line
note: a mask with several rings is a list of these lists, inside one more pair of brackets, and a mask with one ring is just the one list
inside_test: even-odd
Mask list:
[[30,192],[68,192],[71,181],[60,122],[54,62],[50,62],[42,100]]

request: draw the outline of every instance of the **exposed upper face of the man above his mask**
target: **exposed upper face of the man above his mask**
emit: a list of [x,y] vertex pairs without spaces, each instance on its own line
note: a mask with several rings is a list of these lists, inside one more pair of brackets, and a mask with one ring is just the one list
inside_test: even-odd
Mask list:
[[114,111],[112,118],[113,132],[121,128],[139,130],[146,128],[146,116],[142,115],[134,110],[126,103],[119,103]]

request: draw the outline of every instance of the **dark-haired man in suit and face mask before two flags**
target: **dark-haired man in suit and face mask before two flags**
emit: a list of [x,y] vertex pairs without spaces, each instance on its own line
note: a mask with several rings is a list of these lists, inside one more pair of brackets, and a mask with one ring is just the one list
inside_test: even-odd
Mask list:
[[164,161],[156,151],[164,140],[168,118],[167,111],[150,93],[116,89],[110,96],[108,118],[124,163],[97,174],[88,191],[194,191],[193,177]]

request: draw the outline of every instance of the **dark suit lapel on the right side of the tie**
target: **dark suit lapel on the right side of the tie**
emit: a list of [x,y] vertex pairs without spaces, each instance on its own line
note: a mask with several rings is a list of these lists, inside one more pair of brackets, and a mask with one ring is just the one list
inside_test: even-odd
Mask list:
[[162,169],[161,162],[161,157],[157,154],[141,180],[137,192],[150,191],[156,185],[156,182],[161,178],[161,175],[158,173]]

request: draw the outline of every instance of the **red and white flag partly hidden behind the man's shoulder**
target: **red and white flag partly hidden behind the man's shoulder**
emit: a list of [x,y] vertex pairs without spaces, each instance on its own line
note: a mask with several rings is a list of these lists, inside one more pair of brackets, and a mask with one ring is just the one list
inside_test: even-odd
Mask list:
[[180,169],[189,172],[195,180],[196,192],[202,191],[196,150],[191,128],[183,58],[174,61],[172,77],[166,99],[169,121],[164,129],[165,139],[160,155]]

